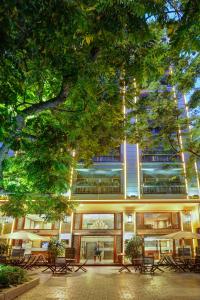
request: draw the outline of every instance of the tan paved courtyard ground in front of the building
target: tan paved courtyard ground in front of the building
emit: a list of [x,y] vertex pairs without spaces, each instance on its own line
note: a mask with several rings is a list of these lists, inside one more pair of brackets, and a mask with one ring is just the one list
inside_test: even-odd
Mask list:
[[200,274],[119,273],[116,267],[88,267],[69,275],[41,274],[41,284],[18,300],[200,300]]

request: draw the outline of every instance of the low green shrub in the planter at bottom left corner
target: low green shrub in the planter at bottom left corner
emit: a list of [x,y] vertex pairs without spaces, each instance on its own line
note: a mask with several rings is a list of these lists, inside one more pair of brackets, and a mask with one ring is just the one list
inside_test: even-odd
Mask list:
[[19,267],[0,266],[0,288],[17,285],[27,280],[27,272]]

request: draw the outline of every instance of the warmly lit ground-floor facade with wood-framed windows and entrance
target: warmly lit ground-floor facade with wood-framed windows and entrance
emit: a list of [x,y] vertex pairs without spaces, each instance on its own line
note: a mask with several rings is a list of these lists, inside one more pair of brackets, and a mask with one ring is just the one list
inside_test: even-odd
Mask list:
[[[65,247],[76,250],[77,261],[87,259],[89,265],[118,263],[126,243],[135,235],[142,237],[145,255],[156,259],[165,253],[200,253],[200,241],[163,238],[180,230],[200,233],[200,204],[191,200],[80,201],[76,211],[62,222],[51,223],[43,216],[27,215],[0,225],[2,234],[28,230],[60,239]],[[12,245],[22,247],[23,243],[12,241]],[[29,251],[47,253],[47,247],[48,242],[33,241]]]

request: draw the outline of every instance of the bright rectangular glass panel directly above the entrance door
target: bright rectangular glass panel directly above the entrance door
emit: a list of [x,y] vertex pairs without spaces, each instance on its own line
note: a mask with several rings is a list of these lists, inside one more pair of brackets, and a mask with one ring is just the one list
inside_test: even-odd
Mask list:
[[83,229],[114,229],[114,214],[84,214]]

